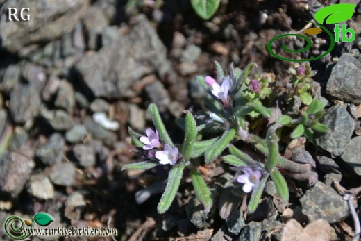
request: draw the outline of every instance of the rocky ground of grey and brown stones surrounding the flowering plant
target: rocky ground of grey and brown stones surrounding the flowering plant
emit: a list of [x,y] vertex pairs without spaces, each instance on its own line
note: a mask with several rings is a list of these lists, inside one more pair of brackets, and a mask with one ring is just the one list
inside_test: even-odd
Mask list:
[[[344,2],[359,3],[222,0],[204,21],[189,1],[0,0],[0,224],[10,215],[42,211],[55,219],[53,227],[117,228],[116,240],[280,240],[291,217],[302,226],[321,218],[331,225],[332,240],[349,240],[354,220],[340,186],[357,195],[361,185],[361,6],[347,22],[356,39],[336,43],[311,63],[319,94],[329,101],[322,122],[331,129],[317,139],[319,148],[306,148],[316,160],[312,188],[290,179],[292,199],[285,205],[269,182],[260,208],[246,221],[242,210],[223,220],[223,185],[234,172],[213,163],[203,167],[219,200],[210,212],[201,210],[185,176],[176,201],[158,215],[167,167],[121,172],[141,160],[129,151],[128,126],[141,133],[152,126],[149,103],[156,103],[171,138],[181,142],[176,119],[187,108],[200,108],[205,94],[196,75],[213,75],[215,60],[241,68],[253,62],[283,86],[291,63],[271,57],[267,42],[303,28],[322,6]],[[7,21],[9,7],[30,8],[31,20]],[[326,40],[313,40],[305,58],[327,49]],[[312,237],[311,224],[304,230],[294,225]],[[3,228],[0,239],[9,240]]]

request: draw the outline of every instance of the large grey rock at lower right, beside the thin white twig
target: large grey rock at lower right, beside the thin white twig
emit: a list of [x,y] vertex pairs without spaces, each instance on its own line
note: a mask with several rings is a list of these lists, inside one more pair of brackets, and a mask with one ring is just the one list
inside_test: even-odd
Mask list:
[[302,210],[310,222],[325,219],[330,224],[349,215],[347,201],[328,185],[317,182],[300,199]]

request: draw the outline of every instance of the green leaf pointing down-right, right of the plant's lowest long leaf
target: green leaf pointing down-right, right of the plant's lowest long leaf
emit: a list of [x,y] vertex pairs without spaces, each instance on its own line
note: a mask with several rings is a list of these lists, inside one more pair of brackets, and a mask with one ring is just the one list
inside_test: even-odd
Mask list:
[[210,189],[202,177],[202,175],[197,172],[191,172],[190,178],[192,179],[194,192],[196,193],[196,198],[203,204],[205,210],[210,210],[212,207],[212,198],[210,197]]

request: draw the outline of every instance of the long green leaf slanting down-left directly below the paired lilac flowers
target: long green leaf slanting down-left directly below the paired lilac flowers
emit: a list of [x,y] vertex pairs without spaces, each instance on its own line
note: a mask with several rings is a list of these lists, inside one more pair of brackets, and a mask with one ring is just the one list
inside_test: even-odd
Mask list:
[[181,163],[179,165],[175,165],[169,171],[168,182],[167,186],[165,187],[165,192],[163,192],[162,197],[160,198],[160,202],[158,203],[158,213],[162,214],[167,212],[167,210],[171,206],[174,197],[176,197],[179,185],[181,185],[184,167],[185,164]]

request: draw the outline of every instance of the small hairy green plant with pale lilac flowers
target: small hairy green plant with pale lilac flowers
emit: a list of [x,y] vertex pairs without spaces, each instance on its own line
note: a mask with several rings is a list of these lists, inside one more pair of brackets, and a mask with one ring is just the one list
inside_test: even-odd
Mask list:
[[[128,129],[137,153],[146,160],[124,165],[123,169],[171,166],[165,191],[158,203],[158,213],[165,213],[171,206],[186,169],[190,174],[196,198],[203,204],[205,212],[210,211],[215,200],[212,200],[210,188],[199,171],[199,163],[203,161],[205,165],[222,161],[232,166],[231,170],[233,168],[238,171],[230,185],[235,185],[235,189],[242,188],[242,195],[251,194],[248,204],[250,213],[257,208],[269,178],[276,185],[280,198],[287,202],[289,191],[280,170],[290,177],[307,179],[311,165],[295,163],[280,154],[278,142],[280,134],[283,133],[282,128],[296,126],[291,133],[292,138],[299,138],[301,135],[308,137],[312,131],[327,131],[327,126],[319,123],[326,106],[324,101],[311,101],[308,109],[296,119],[289,115],[276,115],[270,108],[276,106],[276,88],[271,84],[274,83],[274,77],[253,75],[253,78],[249,78],[251,70],[257,66],[255,64],[250,64],[243,70],[230,65],[226,73],[219,63],[216,62],[215,65],[215,78],[197,77],[208,94],[204,97],[201,112],[193,114],[185,110],[185,137],[182,144],[174,144],[171,140],[154,104],[148,108],[154,130],[147,129],[146,135],[142,135]],[[307,78],[314,74],[310,72],[308,65],[303,68],[299,66],[295,73],[299,78],[297,85],[301,81],[308,81]],[[285,109],[287,108],[283,108]],[[262,123],[266,125],[261,126]],[[260,127],[264,127],[265,132],[261,133]],[[303,129],[300,130],[301,128]],[[212,133],[213,138],[202,140],[208,133]],[[242,151],[245,145],[255,149],[262,158],[255,160]],[[224,210],[227,207],[230,205],[220,208],[222,218],[228,217],[224,215],[229,214]]]

